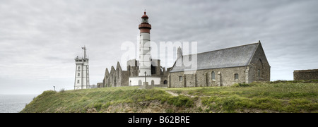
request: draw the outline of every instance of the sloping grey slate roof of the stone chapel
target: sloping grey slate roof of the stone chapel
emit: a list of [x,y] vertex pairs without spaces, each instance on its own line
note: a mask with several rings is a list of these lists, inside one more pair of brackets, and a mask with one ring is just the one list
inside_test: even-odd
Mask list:
[[202,70],[202,69],[211,69],[211,68],[230,68],[237,66],[248,66],[249,61],[251,61],[254,52],[256,51],[259,43],[242,45],[239,47],[230,47],[227,49],[219,49],[211,52],[204,52],[199,54],[184,55],[183,59],[187,59],[192,57],[197,57],[197,68],[190,69],[190,67],[185,67],[184,65],[187,63],[191,63],[191,61],[184,61],[182,66],[178,66],[181,64],[182,59],[179,58],[175,62],[175,65],[172,67],[170,72],[180,72],[184,71],[194,71],[194,70]]

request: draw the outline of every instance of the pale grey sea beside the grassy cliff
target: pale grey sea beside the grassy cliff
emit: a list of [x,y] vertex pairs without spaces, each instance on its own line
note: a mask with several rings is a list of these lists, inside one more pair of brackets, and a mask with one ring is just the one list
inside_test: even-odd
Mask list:
[[0,95],[0,113],[18,113],[37,95]]

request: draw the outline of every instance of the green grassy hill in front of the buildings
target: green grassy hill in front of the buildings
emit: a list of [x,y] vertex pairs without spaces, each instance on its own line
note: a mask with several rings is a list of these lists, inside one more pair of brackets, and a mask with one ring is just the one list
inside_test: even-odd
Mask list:
[[318,83],[45,91],[20,112],[318,112]]

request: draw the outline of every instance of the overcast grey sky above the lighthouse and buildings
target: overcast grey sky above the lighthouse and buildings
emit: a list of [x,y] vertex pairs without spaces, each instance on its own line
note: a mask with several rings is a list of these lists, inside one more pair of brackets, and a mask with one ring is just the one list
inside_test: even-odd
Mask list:
[[[88,49],[90,84],[136,42],[144,9],[154,42],[198,42],[198,52],[261,40],[271,80],[318,68],[317,0],[0,0],[0,94],[72,90]],[[126,70],[126,63],[122,68]],[[172,63],[167,63],[167,67]]]

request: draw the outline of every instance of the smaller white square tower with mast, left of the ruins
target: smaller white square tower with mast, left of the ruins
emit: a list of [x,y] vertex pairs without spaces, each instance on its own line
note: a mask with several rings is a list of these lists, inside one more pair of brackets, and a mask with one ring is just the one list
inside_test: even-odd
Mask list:
[[88,69],[88,57],[86,56],[86,47],[82,47],[84,50],[84,57],[76,57],[76,71],[75,71],[75,83],[74,90],[88,89],[90,88],[89,69]]

